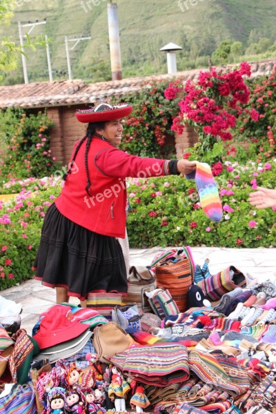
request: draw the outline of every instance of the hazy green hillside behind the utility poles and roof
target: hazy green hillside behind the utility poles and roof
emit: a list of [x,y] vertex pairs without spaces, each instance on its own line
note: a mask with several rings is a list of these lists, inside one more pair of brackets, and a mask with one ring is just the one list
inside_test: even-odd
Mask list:
[[[64,36],[90,34],[70,51],[74,78],[88,81],[110,79],[108,49],[108,0],[17,0],[14,18],[0,37],[12,35],[19,42],[18,21],[47,19],[31,35],[47,33],[54,79],[66,79]],[[97,6],[95,6],[97,4]],[[166,72],[166,54],[159,48],[172,41],[182,46],[177,68],[207,66],[208,56],[224,39],[248,42],[261,38],[276,41],[275,0],[117,0],[123,77]],[[73,43],[71,43],[72,46]],[[28,51],[30,81],[47,80],[46,50]],[[56,72],[57,71],[57,72]],[[23,80],[19,69],[8,75],[6,83]]]

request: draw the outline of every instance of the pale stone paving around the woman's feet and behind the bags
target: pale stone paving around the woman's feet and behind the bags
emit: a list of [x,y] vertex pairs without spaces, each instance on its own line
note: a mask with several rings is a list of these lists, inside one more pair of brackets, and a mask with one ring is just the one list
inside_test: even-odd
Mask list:
[[[161,250],[160,247],[150,249],[130,249],[130,266],[148,265],[153,257]],[[195,263],[202,265],[204,259],[210,259],[210,273],[217,273],[227,266],[233,265],[243,273],[250,273],[256,278],[268,279],[276,277],[276,248],[219,248],[196,247],[192,248]],[[14,286],[2,290],[0,295],[6,299],[21,303],[21,328],[25,328],[29,335],[37,322],[39,315],[55,304],[55,289],[42,286],[34,279],[28,280],[21,286]],[[79,304],[77,298],[70,302]]]

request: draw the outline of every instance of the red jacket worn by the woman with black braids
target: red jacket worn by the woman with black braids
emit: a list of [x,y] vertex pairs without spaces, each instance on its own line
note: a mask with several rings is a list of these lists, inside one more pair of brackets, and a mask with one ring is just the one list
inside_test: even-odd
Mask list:
[[86,141],[79,148],[75,166],[65,181],[61,195],[55,199],[55,204],[62,215],[88,230],[101,235],[124,238],[125,177],[167,175],[169,161],[135,157],[115,148],[108,141],[93,137],[88,151],[91,184],[89,197],[86,193],[85,150]]

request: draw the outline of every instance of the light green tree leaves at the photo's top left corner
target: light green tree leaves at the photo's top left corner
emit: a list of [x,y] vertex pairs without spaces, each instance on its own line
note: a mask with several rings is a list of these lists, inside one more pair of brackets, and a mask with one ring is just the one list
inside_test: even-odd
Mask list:
[[[10,19],[14,15],[15,0],[2,0],[0,3],[0,24],[10,24]],[[27,43],[24,48],[36,50],[37,46],[46,46],[46,41],[42,35],[30,41],[30,36],[26,34]],[[50,41],[50,40],[49,40]],[[17,68],[18,57],[23,53],[22,47],[12,41],[11,37],[4,37],[0,41],[0,81],[6,76],[7,72]]]

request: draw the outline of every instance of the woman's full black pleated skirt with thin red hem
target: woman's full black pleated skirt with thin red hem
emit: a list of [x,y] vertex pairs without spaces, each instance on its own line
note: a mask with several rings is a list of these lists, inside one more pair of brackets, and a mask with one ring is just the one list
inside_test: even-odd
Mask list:
[[81,300],[90,292],[127,292],[124,255],[117,239],[73,223],[55,203],[46,213],[33,269],[43,285],[67,288],[69,296]]

